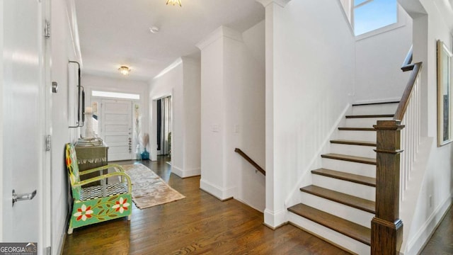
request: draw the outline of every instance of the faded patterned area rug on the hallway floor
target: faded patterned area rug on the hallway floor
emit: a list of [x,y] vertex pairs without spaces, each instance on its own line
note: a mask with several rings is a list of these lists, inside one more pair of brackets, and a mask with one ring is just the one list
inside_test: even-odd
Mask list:
[[137,208],[150,208],[185,198],[143,164],[122,166],[132,182],[132,200]]

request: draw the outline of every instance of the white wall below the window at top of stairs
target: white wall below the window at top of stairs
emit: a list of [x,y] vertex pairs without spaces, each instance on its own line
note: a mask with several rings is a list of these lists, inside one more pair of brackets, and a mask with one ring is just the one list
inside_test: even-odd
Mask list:
[[409,79],[401,64],[412,45],[412,19],[401,10],[403,26],[355,43],[355,102],[399,100]]

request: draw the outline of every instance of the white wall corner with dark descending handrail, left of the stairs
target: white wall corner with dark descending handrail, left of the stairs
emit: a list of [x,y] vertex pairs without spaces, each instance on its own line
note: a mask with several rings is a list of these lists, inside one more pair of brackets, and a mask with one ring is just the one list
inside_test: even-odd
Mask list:
[[219,199],[265,208],[265,178],[234,152],[265,167],[264,23],[239,33],[220,27],[202,50],[202,179]]

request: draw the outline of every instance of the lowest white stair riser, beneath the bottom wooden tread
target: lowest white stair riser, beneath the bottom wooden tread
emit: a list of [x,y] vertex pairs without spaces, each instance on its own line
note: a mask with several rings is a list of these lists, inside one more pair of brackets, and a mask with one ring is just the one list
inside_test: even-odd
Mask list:
[[330,242],[337,244],[338,246],[343,246],[345,249],[355,252],[356,254],[371,254],[371,248],[367,244],[362,244],[355,239],[346,237],[343,234],[319,225],[316,222],[312,222],[311,220],[307,220],[304,217],[300,217],[292,212],[289,212],[288,220],[289,222],[292,222],[292,224],[297,225],[302,229],[306,229],[308,232],[314,233],[319,237],[328,239]]

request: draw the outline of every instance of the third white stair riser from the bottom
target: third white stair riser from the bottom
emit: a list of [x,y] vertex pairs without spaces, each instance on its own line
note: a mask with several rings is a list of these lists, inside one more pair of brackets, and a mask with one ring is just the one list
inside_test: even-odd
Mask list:
[[313,174],[313,185],[321,188],[328,188],[333,191],[345,193],[350,196],[356,196],[367,200],[376,200],[376,188],[366,186],[359,183],[352,183],[350,181],[343,181],[339,179],[330,178],[327,176],[320,176]]

